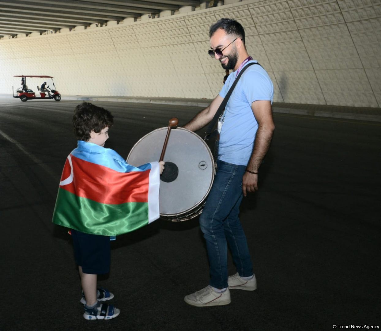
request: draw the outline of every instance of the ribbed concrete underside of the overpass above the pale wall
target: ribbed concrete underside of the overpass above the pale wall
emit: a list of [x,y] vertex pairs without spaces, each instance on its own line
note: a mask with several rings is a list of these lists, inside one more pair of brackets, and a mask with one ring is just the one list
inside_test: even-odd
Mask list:
[[182,6],[199,6],[200,0],[38,0],[0,1],[0,37],[32,32],[90,26],[93,23],[123,21],[144,14],[176,11]]

